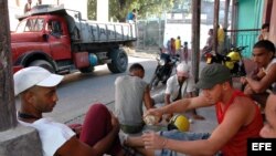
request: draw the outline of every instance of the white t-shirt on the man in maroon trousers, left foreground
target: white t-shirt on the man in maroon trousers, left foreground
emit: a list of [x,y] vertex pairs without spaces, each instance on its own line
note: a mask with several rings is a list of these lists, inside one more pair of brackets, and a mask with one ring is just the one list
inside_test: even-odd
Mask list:
[[43,156],[53,156],[55,152],[75,133],[66,125],[56,123],[51,118],[41,118],[34,123],[19,121],[23,126],[38,129],[42,143]]

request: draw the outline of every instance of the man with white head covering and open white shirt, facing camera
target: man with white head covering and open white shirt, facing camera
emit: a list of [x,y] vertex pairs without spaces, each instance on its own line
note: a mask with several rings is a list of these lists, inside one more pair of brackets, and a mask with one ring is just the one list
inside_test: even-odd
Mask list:
[[[195,83],[192,74],[190,73],[190,66],[185,62],[181,62],[177,66],[177,74],[172,75],[167,81],[164,93],[153,96],[152,98],[155,103],[157,103],[157,101],[161,102],[157,98],[160,98],[160,96],[162,96],[161,98],[163,98],[164,105],[169,105],[172,102],[181,98],[193,97],[194,91]],[[192,110],[192,113],[194,119],[204,119],[203,116],[197,114],[195,110]],[[166,119],[169,121],[171,117],[172,114],[169,114]]]

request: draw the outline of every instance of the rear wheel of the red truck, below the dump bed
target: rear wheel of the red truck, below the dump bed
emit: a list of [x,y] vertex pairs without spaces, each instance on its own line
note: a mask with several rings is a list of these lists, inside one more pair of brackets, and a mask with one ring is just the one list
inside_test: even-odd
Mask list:
[[123,73],[127,70],[128,58],[127,53],[123,49],[116,49],[109,52],[112,63],[107,66],[113,73]]

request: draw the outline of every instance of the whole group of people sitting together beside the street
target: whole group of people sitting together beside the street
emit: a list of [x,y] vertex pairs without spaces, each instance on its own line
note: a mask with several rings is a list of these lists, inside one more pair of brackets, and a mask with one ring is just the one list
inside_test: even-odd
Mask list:
[[[135,63],[129,74],[115,81],[115,113],[104,104],[93,104],[82,127],[67,126],[44,118],[59,101],[56,86],[63,75],[30,66],[14,73],[14,93],[20,96],[18,121],[38,129],[44,156],[126,155],[123,147],[132,147],[142,155],[223,155],[245,156],[247,138],[276,137],[276,61],[275,46],[268,40],[258,41],[253,49],[257,72],[241,79],[246,85],[238,91],[232,85],[230,70],[222,64],[208,64],[195,83],[189,65],[181,63],[177,74],[167,82],[160,96],[164,106],[157,107],[148,84],[142,80],[145,70]],[[201,90],[199,96],[193,94]],[[269,92],[267,92],[269,91]],[[264,101],[255,96],[264,95]],[[267,96],[269,96],[267,98]],[[142,111],[142,103],[146,113]],[[258,106],[261,104],[261,108]],[[204,119],[195,108],[215,106],[219,125],[212,133],[173,131],[149,132],[140,136],[144,116],[169,119],[173,113],[193,110],[195,119]],[[265,121],[262,116],[265,112]],[[119,132],[124,135],[119,137]]]

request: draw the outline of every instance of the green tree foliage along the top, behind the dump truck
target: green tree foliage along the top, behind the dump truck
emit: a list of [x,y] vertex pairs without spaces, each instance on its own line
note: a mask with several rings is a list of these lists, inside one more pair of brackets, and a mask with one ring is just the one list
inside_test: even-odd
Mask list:
[[[184,0],[109,0],[109,17],[114,20],[125,21],[126,15],[132,9],[139,10],[138,18],[160,15],[163,11],[171,10],[174,3]],[[187,0],[185,0],[187,1]],[[96,19],[97,0],[88,0],[88,19]]]

